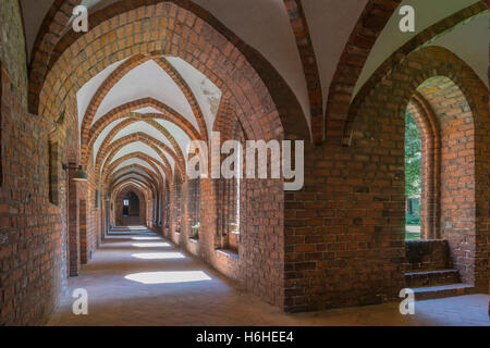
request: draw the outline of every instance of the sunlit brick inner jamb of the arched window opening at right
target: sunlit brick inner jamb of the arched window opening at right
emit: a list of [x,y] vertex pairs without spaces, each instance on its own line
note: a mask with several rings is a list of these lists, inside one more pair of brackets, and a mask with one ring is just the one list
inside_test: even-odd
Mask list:
[[440,231],[465,283],[475,283],[476,197],[474,115],[461,89],[436,76],[418,87],[441,132]]

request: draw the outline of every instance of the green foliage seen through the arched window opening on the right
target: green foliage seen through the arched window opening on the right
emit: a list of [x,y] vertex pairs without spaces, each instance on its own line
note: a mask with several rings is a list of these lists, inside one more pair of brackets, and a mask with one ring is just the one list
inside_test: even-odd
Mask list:
[[405,113],[405,197],[420,197],[420,134],[408,110]]

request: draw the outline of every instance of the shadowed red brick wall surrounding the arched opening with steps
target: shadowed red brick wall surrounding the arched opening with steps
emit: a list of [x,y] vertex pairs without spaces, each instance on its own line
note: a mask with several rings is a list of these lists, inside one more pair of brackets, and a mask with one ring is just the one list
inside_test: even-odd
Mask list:
[[[448,211],[442,221],[451,219],[457,237],[453,239],[446,231],[441,234],[450,239],[465,281],[473,283],[474,276],[476,286],[485,284],[486,288],[488,90],[454,54],[431,47],[409,54],[366,97],[354,121],[350,147],[326,145],[306,150],[305,187],[285,195],[286,310],[397,297],[404,286],[405,257],[404,115],[416,88],[439,75],[451,78],[467,100],[461,103],[451,90],[448,96],[455,98],[458,108],[445,102],[452,113],[445,112],[450,124],[441,125],[442,144],[453,144],[442,159],[441,187],[446,188],[441,211]],[[471,123],[481,130],[473,134]],[[456,126],[463,130],[457,133]],[[458,206],[464,211],[456,212]]]

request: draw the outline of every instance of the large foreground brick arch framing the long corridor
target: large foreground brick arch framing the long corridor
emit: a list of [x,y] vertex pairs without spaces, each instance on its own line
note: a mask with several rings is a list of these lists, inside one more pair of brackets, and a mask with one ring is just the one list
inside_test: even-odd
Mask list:
[[[158,29],[145,34],[143,32],[147,30],[147,26],[131,26],[126,32],[122,27],[115,28],[115,23],[126,23],[125,17],[124,21],[119,21],[120,16],[132,10],[135,13],[134,23],[151,22],[151,26]],[[147,13],[152,16],[148,18]],[[173,25],[174,23],[177,25]],[[172,29],[168,29],[168,24],[171,24]],[[250,138],[286,136],[309,139],[304,113],[283,78],[260,53],[244,44],[200,7],[183,0],[148,0],[145,3],[120,1],[90,15],[89,26],[94,29],[83,35],[84,40],[78,40],[82,35],[68,30],[61,39],[54,40],[56,47],[51,45],[48,54],[39,57],[36,73],[30,75],[30,109],[52,117],[57,113],[52,107],[57,102],[52,98],[57,96],[56,98],[63,100],[63,95],[73,88],[72,82],[64,83],[66,77],[73,79],[78,75],[82,80],[76,85],[83,85],[84,80],[93,77],[96,70],[85,69],[81,72],[78,69],[77,73],[59,70],[60,66],[82,63],[78,62],[81,49],[86,49],[97,41],[97,48],[102,48],[107,58],[103,64],[110,64],[128,57],[130,50],[122,46],[131,44],[132,54],[180,57],[218,87],[222,87],[224,95],[230,95],[241,108],[238,114],[246,124]],[[124,35],[135,34],[135,28],[143,32],[136,33],[137,37],[131,42],[122,39]],[[151,38],[150,42],[147,42],[148,37]],[[118,42],[121,47],[115,45],[117,38],[121,38]],[[71,47],[70,51],[66,50],[68,47]],[[86,51],[88,50],[95,52],[97,49]],[[98,67],[103,64],[98,64]],[[59,86],[52,84],[56,80],[63,82],[61,94]],[[56,88],[52,89],[52,86]],[[264,114],[268,115],[266,124],[254,122]]]

